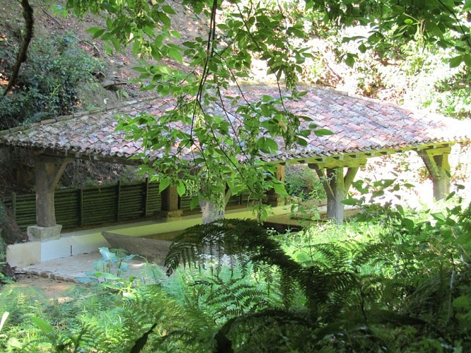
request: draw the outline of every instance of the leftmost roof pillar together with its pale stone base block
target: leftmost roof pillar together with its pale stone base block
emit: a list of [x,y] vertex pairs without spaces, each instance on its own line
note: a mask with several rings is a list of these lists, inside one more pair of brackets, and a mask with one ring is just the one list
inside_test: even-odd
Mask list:
[[59,239],[61,225],[56,224],[54,190],[66,164],[71,160],[38,156],[35,160],[36,174],[36,225],[28,227],[30,241]]

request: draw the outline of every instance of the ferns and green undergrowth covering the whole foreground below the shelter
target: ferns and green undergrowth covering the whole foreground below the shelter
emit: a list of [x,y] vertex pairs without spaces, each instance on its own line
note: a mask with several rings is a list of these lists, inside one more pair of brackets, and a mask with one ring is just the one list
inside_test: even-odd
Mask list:
[[172,245],[169,277],[148,265],[152,283],[126,277],[131,257],[102,249],[103,281],[60,304],[4,287],[0,347],[466,352],[471,206],[452,201],[421,212],[374,205],[346,225],[287,234],[248,220],[192,227]]

